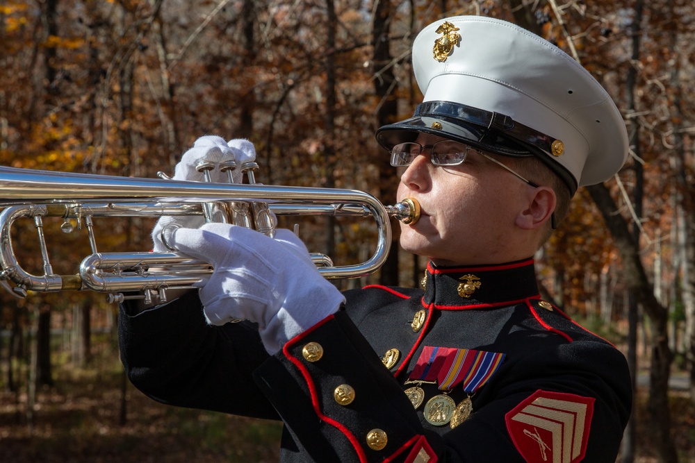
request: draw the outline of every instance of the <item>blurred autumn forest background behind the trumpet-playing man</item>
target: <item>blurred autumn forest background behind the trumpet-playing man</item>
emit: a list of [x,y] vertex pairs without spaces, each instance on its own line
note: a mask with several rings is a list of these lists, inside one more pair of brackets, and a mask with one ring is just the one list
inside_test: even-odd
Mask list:
[[[628,357],[637,394],[620,461],[695,461],[691,0],[3,0],[0,165],[154,178],[216,134],[254,142],[261,183],[392,204],[398,179],[373,133],[420,101],[416,33],[459,14],[546,37],[623,113],[630,160],[580,189],[537,255],[539,282]],[[26,222],[15,224],[15,253],[40,274]],[[62,224],[44,224],[51,264],[76,273],[90,244],[84,227]],[[153,224],[95,219],[97,248],[147,251]],[[306,219],[300,236],[354,263],[373,253],[374,228]],[[381,271],[338,285],[417,285],[424,265],[393,244]],[[133,389],[116,318],[103,294],[0,295],[0,461],[277,460],[278,423],[174,410]]]

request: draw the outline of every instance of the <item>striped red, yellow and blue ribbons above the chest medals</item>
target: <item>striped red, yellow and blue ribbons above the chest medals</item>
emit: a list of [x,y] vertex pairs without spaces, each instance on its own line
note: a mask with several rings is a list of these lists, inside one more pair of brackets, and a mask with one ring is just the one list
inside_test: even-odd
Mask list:
[[504,359],[503,353],[424,346],[409,379],[436,380],[443,391],[461,384],[465,392],[472,394],[485,385]]

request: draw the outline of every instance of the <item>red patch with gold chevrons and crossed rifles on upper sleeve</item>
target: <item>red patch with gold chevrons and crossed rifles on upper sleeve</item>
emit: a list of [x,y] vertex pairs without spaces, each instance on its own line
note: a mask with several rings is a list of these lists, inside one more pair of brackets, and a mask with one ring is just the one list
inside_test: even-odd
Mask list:
[[539,389],[507,413],[507,432],[528,463],[579,462],[587,450],[594,401]]

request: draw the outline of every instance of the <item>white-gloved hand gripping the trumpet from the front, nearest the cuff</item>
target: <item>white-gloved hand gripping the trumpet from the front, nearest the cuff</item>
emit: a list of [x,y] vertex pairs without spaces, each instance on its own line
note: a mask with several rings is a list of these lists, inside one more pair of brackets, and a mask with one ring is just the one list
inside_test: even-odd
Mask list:
[[204,224],[175,230],[170,244],[213,264],[199,291],[208,323],[254,321],[270,354],[345,302],[290,230],[277,230],[273,239],[239,226]]

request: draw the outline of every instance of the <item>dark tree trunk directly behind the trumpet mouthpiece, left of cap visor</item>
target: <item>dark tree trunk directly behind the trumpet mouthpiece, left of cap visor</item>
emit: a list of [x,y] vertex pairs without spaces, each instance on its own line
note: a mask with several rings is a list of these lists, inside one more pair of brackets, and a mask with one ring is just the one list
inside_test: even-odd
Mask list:
[[[377,124],[391,124],[398,115],[398,99],[395,90],[398,83],[393,75],[393,57],[391,56],[391,19],[394,6],[391,0],[375,0],[374,19],[372,28],[373,72],[375,74],[375,93],[379,99],[377,108]],[[398,178],[391,167],[388,156],[380,156],[377,161],[379,168],[379,199],[384,203],[396,200]],[[395,224],[395,221],[392,221]],[[389,258],[386,259],[379,276],[382,285],[398,285],[398,225],[393,227]]]

